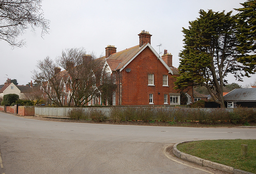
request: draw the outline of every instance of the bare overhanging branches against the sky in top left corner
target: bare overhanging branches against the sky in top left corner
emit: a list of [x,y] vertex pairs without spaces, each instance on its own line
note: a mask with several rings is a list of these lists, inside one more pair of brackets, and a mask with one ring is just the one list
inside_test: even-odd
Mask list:
[[30,26],[42,29],[41,35],[48,33],[49,21],[44,19],[42,0],[0,0],[0,40],[10,45],[22,47],[24,40],[17,41]]

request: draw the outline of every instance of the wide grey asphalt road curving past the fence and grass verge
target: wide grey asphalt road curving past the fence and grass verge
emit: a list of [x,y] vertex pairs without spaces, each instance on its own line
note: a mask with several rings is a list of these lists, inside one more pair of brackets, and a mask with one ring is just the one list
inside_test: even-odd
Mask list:
[[256,129],[63,123],[0,112],[0,174],[223,173],[164,151],[202,139],[256,139]]

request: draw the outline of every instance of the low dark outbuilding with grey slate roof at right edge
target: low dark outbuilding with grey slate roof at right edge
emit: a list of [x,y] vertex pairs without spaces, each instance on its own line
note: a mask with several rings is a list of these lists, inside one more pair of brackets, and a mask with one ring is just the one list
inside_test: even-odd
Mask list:
[[224,96],[226,108],[256,107],[256,88],[234,89]]

